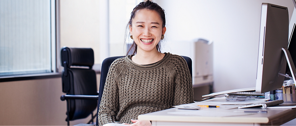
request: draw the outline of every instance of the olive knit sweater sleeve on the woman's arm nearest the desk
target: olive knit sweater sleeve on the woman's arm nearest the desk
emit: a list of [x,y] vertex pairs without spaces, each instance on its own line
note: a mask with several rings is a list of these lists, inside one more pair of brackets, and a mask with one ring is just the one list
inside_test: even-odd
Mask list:
[[179,57],[176,60],[176,74],[175,74],[175,98],[174,105],[193,103],[193,88],[190,71],[186,60]]

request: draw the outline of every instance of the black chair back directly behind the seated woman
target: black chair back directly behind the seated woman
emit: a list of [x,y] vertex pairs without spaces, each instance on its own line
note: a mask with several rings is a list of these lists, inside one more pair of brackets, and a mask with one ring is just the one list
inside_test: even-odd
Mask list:
[[[110,65],[112,64],[112,62],[115,59],[121,58],[121,57],[125,57],[125,56],[114,56],[114,57],[109,57],[104,59],[103,63],[102,63],[102,69],[101,69],[101,80],[100,80],[100,88],[99,88],[99,98],[98,98],[98,110],[97,112],[99,112],[100,109],[100,103],[102,100],[102,95],[103,95],[103,91],[104,91],[104,87],[105,87],[105,82],[106,82],[106,78],[107,78],[107,74],[110,68]],[[192,78],[192,60],[191,58],[187,57],[187,56],[182,56],[188,65],[189,71],[190,71],[190,75]],[[99,124],[99,120],[98,120],[98,116],[96,117],[96,125]]]

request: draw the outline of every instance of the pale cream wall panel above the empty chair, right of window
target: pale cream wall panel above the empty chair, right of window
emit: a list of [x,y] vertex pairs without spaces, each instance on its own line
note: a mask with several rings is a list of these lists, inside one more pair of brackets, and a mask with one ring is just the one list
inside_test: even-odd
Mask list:
[[92,48],[100,61],[100,13],[97,0],[60,0],[60,47]]

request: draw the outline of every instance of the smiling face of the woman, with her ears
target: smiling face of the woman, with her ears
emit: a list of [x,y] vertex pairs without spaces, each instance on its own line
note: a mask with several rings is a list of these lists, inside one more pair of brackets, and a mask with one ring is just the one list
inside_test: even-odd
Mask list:
[[162,28],[160,15],[154,10],[141,9],[135,13],[130,25],[130,34],[138,45],[138,51],[157,51],[156,45],[161,40],[161,35],[166,32]]

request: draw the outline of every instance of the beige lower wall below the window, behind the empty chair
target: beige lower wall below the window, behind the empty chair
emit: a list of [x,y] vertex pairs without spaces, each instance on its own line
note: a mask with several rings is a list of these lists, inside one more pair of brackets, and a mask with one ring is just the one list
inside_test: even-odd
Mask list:
[[[99,78],[98,74],[98,87]],[[66,101],[60,100],[63,94],[60,77],[1,82],[0,125],[67,125]],[[70,125],[90,119],[71,121]]]

